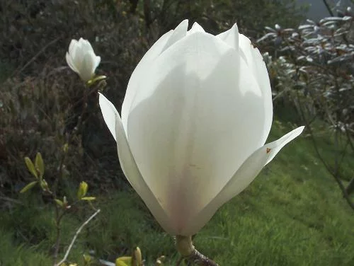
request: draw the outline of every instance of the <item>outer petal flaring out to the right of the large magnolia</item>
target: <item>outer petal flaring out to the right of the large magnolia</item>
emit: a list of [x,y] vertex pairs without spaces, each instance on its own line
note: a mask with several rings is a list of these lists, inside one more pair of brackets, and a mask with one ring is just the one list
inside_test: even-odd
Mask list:
[[292,130],[292,132],[285,134],[285,136],[277,141],[265,144],[249,156],[239,170],[236,171],[232,179],[229,180],[229,183],[224,186],[219,195],[212,199],[205,209],[200,213],[195,214],[195,216],[188,221],[188,227],[185,228],[185,231],[183,231],[182,234],[185,236],[191,236],[197,233],[202,226],[211,219],[219,207],[242,192],[254,180],[254,178],[256,178],[262,168],[269,163],[276,154],[278,154],[280,149],[292,141],[292,139],[299,136],[303,129],[304,127],[298,127],[297,129]]

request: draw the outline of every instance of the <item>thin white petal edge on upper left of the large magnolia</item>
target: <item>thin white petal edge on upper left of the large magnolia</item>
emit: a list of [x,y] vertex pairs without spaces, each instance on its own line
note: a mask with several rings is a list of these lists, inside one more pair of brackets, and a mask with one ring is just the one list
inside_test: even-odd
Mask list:
[[125,93],[125,98],[122,104],[122,122],[125,130],[127,129],[127,117],[130,112],[130,106],[132,105],[132,100],[137,93],[137,88],[139,87],[140,82],[144,81],[145,75],[147,74],[147,69],[149,69],[156,57],[161,54],[166,45],[166,42],[171,37],[172,33],[173,30],[170,30],[168,33],[162,35],[159,40],[157,40],[157,42],[152,45],[149,51],[147,51],[144,57],[142,57],[139,64],[137,64],[137,67],[134,69],[132,76],[130,76],[127,91]]

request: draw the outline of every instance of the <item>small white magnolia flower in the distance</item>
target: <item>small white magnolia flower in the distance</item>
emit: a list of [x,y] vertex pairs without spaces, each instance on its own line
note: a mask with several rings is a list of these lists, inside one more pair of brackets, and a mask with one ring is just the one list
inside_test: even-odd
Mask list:
[[67,64],[79,74],[83,81],[89,81],[95,74],[101,57],[96,56],[88,40],[80,38],[79,41],[72,40],[69,45],[69,52],[66,54]]

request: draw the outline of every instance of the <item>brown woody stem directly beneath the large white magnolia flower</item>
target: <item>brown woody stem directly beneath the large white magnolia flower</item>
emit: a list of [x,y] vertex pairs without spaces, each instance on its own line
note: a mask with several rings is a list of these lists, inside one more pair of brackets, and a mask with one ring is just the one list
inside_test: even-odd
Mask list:
[[[191,236],[176,236],[176,248],[182,255],[182,260],[193,262],[195,265],[200,266],[218,266],[218,264],[202,255],[198,250],[194,248]],[[178,264],[179,265],[179,262]]]

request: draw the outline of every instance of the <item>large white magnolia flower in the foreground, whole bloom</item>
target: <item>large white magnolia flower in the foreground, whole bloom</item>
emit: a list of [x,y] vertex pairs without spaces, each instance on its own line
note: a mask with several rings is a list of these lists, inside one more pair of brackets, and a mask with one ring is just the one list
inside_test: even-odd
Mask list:
[[216,36],[187,27],[163,35],[139,62],[122,119],[99,100],[127,180],[164,230],[182,236],[198,232],[304,129],[265,144],[273,104],[260,52],[236,24]]

